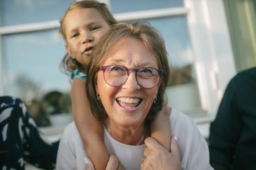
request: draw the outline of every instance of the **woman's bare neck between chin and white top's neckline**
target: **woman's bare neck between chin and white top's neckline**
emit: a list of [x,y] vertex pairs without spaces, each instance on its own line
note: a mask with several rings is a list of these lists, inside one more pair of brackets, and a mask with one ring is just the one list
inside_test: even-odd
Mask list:
[[139,126],[122,126],[111,122],[109,118],[105,121],[105,126],[108,133],[118,142],[139,145],[143,144],[145,138],[150,135],[149,128],[145,122]]

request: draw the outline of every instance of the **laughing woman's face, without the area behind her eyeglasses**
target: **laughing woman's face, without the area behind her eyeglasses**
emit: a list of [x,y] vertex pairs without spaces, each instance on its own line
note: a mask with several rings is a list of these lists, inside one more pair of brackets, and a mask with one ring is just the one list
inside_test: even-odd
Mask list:
[[[153,54],[144,44],[131,37],[117,43],[102,66],[116,64],[128,69],[142,67],[158,69]],[[123,126],[135,126],[144,121],[157,95],[158,87],[159,83],[151,89],[140,87],[133,71],[130,72],[125,84],[113,87],[104,80],[102,70],[97,73],[96,91],[110,121]]]

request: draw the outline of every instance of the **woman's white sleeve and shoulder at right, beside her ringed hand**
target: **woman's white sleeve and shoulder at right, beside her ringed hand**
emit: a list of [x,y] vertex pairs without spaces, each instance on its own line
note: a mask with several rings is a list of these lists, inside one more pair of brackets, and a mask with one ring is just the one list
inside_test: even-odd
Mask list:
[[[172,108],[170,115],[172,135],[177,136],[182,168],[209,170],[209,150],[194,120]],[[197,162],[197,164],[195,164]]]

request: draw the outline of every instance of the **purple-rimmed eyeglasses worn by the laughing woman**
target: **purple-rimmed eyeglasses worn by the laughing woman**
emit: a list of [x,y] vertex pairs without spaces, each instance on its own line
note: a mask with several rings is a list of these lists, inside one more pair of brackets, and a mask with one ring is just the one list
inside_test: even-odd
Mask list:
[[108,85],[117,87],[125,84],[130,71],[135,72],[135,77],[139,86],[150,89],[157,85],[160,80],[161,70],[151,67],[143,67],[141,69],[128,69],[121,65],[101,66],[104,80]]

